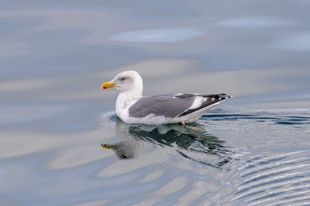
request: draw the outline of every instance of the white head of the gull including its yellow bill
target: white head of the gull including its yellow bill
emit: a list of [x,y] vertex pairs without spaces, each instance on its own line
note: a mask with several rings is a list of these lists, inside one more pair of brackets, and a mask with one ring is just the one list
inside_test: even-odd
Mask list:
[[125,71],[119,73],[110,82],[105,82],[101,85],[101,89],[113,87],[120,92],[133,91],[142,95],[143,83],[142,78],[136,71]]

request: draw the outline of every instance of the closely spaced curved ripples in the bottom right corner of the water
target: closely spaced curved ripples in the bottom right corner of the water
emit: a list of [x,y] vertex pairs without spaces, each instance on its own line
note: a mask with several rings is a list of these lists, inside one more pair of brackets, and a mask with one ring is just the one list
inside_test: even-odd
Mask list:
[[[307,205],[310,193],[309,151],[255,157],[248,161],[224,204],[234,205]],[[300,155],[306,156],[300,158]],[[306,203],[305,203],[306,202]]]

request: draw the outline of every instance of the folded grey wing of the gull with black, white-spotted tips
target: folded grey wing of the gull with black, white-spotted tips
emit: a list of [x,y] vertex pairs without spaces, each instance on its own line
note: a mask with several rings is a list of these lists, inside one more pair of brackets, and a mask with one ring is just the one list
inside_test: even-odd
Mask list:
[[[225,94],[220,94],[225,96]],[[219,95],[196,95],[196,94],[179,94],[179,93],[165,93],[159,95],[145,96],[137,100],[129,108],[129,116],[131,117],[145,117],[149,114],[155,116],[176,117],[184,116],[193,111],[209,106],[220,101]],[[201,104],[196,108],[192,107],[195,99],[201,99]],[[224,98],[225,99],[225,98]],[[222,99],[222,100],[224,100]]]

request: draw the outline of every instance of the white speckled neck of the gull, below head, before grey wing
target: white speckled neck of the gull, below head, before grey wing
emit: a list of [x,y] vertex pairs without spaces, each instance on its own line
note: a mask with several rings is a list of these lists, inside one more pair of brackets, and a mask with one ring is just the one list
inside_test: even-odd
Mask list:
[[116,113],[120,116],[121,110],[133,105],[134,101],[142,97],[142,91],[123,91],[116,99]]

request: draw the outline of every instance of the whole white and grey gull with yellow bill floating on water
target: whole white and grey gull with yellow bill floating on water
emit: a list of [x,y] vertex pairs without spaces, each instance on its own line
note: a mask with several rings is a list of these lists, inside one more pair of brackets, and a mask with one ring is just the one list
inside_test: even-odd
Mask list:
[[127,124],[170,124],[198,120],[206,111],[222,103],[231,95],[201,95],[163,93],[142,96],[142,78],[136,71],[125,71],[101,85],[101,89],[113,87],[120,91],[115,108],[121,120]]

